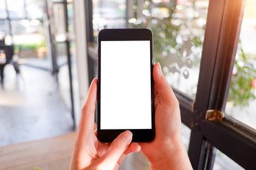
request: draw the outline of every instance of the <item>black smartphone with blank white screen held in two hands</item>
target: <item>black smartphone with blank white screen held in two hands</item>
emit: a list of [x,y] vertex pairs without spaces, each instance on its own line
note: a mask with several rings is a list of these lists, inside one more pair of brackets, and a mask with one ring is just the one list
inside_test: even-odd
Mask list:
[[132,142],[155,137],[153,34],[146,28],[98,34],[97,137],[112,142],[130,130]]

